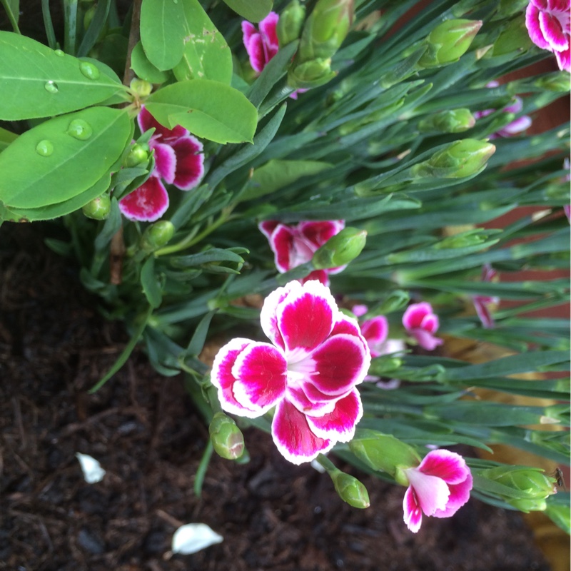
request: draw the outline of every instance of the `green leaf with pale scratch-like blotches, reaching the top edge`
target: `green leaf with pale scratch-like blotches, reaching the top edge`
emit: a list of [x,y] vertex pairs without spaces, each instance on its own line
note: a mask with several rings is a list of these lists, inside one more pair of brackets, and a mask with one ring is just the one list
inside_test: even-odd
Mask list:
[[224,36],[208,18],[198,0],[185,0],[183,8],[186,36],[183,58],[173,68],[176,79],[213,79],[230,85],[232,53]]

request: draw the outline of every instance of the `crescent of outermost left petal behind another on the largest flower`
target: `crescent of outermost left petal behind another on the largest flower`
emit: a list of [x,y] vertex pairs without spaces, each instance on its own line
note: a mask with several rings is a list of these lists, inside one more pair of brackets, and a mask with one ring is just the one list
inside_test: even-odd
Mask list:
[[248,418],[256,418],[259,415],[236,400],[233,391],[236,377],[232,374],[232,368],[238,355],[252,343],[254,342],[243,338],[236,338],[226,343],[216,353],[211,371],[211,383],[218,389],[218,400],[220,400],[222,408],[228,413]]

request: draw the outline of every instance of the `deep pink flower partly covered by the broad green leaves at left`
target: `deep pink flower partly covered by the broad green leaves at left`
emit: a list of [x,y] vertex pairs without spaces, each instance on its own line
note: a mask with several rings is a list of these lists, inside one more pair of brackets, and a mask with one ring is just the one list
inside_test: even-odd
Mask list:
[[163,181],[181,191],[189,191],[201,181],[204,174],[203,146],[180,125],[173,129],[163,127],[144,107],[137,121],[141,133],[155,128],[148,142],[154,151],[155,168],[145,183],[121,198],[119,209],[129,220],[154,222],[168,208],[168,192]]

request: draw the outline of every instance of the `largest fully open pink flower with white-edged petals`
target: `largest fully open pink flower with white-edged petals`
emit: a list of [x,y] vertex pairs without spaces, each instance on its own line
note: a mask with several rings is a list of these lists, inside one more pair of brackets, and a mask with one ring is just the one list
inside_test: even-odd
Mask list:
[[363,415],[355,386],[370,365],[356,321],[322,283],[293,281],[268,295],[261,325],[271,343],[236,338],[214,359],[222,408],[257,418],[275,407],[273,441],[294,464],[351,440]]

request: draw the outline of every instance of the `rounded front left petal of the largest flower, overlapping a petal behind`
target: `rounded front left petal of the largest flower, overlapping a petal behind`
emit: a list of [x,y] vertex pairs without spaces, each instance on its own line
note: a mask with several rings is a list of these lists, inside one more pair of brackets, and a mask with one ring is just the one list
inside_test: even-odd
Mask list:
[[236,356],[232,367],[234,397],[243,407],[263,415],[283,398],[288,363],[269,343],[251,343]]

